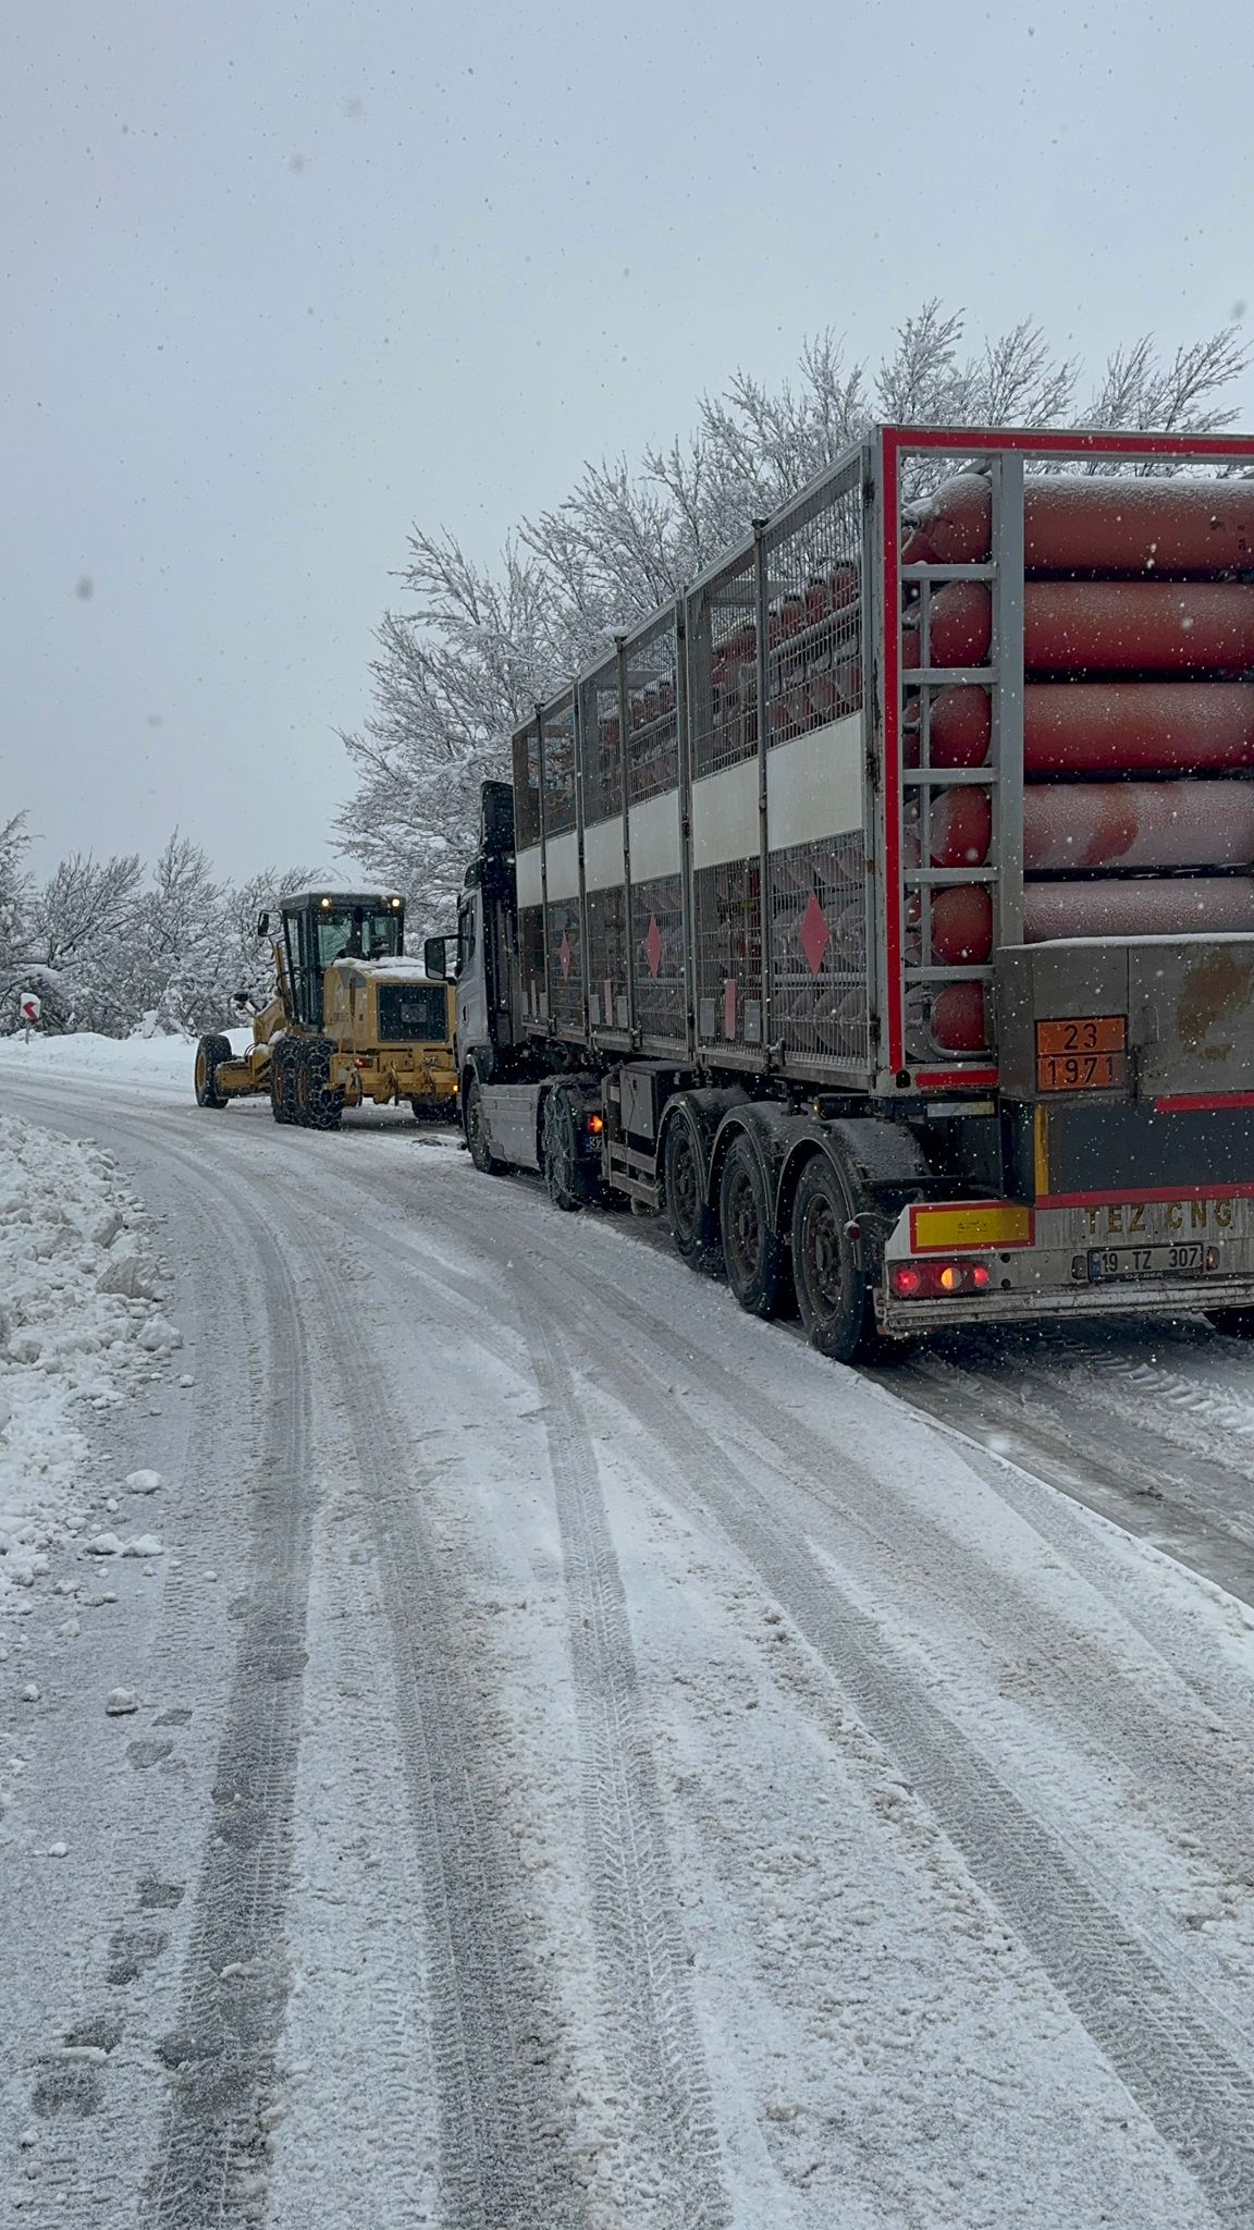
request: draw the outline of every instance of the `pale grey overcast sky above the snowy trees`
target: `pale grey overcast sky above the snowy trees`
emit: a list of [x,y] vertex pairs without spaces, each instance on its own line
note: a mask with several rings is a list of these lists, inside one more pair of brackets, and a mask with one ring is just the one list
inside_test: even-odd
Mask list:
[[411,520],[489,558],[928,294],[1093,372],[1243,314],[1250,51],[1250,0],[9,7],[0,821],[330,865]]

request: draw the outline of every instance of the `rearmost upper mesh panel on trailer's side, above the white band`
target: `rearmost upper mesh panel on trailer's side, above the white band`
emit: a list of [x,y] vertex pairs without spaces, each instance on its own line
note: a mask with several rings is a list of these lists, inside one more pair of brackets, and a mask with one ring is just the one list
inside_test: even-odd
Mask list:
[[861,479],[823,488],[763,542],[768,745],[861,707]]

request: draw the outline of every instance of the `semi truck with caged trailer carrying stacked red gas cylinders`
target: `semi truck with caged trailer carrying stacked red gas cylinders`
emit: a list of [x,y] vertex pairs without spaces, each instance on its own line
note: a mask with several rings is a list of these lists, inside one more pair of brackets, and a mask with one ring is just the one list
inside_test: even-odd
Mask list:
[[1254,1331],[1252,475],[884,426],[538,705],[460,901],[475,1166],[841,1360]]

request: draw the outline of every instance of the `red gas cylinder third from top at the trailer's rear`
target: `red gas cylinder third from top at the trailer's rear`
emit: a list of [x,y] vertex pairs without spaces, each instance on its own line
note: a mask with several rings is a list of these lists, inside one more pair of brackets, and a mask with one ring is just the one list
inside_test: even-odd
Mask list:
[[[933,767],[988,758],[988,691],[933,698]],[[913,754],[913,756],[910,756]],[[906,716],[906,765],[917,765],[917,711]],[[1254,767],[1247,682],[1029,682],[1026,774],[1180,774]]]

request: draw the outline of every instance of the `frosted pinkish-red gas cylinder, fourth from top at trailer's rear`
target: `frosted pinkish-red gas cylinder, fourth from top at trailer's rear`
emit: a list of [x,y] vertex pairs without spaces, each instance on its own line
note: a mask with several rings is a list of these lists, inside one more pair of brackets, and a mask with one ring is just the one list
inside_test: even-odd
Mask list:
[[1035,872],[1252,865],[1254,783],[1033,783],[1024,792],[1024,867]]

